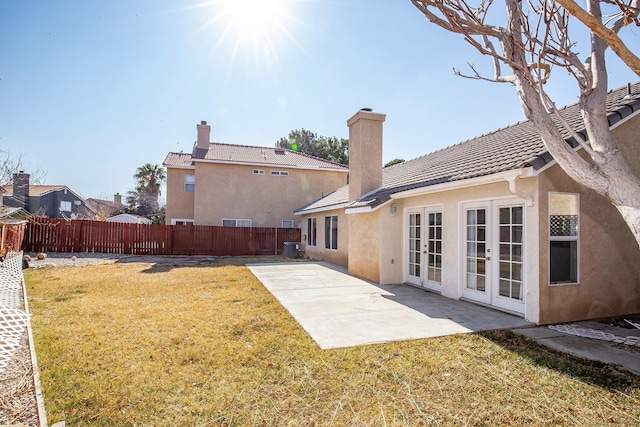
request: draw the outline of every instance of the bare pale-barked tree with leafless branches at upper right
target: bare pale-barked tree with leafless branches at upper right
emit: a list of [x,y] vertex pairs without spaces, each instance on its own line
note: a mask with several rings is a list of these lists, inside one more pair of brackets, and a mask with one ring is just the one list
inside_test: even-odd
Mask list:
[[[549,153],[571,178],[606,197],[618,209],[640,246],[640,178],[618,149],[607,121],[605,62],[605,53],[611,49],[640,76],[640,59],[632,50],[640,50],[640,42],[625,43],[620,37],[623,29],[640,26],[640,0],[585,0],[586,9],[573,0],[505,0],[506,18],[492,7],[492,0],[411,1],[429,22],[461,34],[492,59],[491,77],[482,76],[473,66],[469,75],[457,74],[513,84],[525,116]],[[603,15],[603,8],[611,13]],[[506,22],[493,25],[493,18]],[[582,60],[570,23],[582,25],[580,29],[590,34],[588,49],[581,46],[588,51]],[[504,65],[510,74],[503,74]],[[587,138],[563,120],[546,91],[554,68],[568,71],[577,84]],[[588,159],[565,142],[563,129],[581,144]]]

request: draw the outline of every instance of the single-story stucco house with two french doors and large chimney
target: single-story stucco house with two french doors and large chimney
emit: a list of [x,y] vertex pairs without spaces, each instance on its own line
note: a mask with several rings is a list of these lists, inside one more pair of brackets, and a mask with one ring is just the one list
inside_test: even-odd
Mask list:
[[[630,89],[608,94],[608,119],[640,174],[640,83]],[[577,105],[561,114],[581,123]],[[640,312],[633,235],[530,122],[382,169],[384,120],[367,110],[348,120],[349,185],[296,210],[307,256],[537,324]]]

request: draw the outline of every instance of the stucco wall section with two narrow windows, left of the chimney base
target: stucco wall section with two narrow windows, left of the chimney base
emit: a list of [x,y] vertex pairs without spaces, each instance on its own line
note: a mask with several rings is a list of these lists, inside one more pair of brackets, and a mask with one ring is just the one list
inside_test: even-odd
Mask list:
[[[324,221],[325,217],[338,216],[338,249],[325,248]],[[308,218],[316,218],[316,246],[309,246]],[[328,261],[334,264],[347,266],[349,251],[349,219],[344,209],[320,212],[317,214],[302,216],[302,250],[305,256],[319,261]]]

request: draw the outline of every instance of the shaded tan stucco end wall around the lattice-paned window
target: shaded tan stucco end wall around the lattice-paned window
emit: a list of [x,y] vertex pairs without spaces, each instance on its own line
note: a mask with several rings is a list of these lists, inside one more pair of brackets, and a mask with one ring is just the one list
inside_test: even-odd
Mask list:
[[[640,172],[640,120],[614,135]],[[597,319],[640,312],[640,250],[618,211],[555,165],[540,178],[540,323]],[[580,194],[578,284],[549,285],[548,192]]]

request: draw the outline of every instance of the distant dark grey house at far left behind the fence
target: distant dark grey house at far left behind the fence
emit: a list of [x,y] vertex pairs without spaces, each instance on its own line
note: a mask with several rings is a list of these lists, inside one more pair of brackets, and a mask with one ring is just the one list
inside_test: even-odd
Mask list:
[[13,174],[13,185],[2,188],[6,207],[22,208],[49,218],[93,218],[82,197],[66,185],[30,185],[29,174]]

